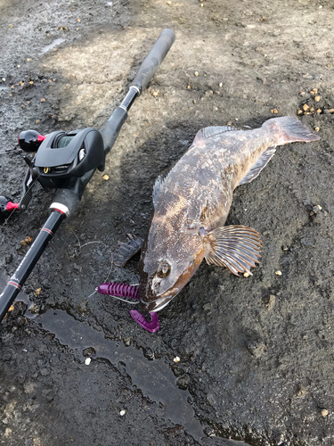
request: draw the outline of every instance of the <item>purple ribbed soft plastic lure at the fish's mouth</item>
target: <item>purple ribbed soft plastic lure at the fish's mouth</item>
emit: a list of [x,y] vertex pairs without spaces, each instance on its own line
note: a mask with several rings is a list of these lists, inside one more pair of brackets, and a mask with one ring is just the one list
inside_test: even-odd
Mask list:
[[[109,284],[99,285],[97,288],[98,293],[107,294],[115,297],[126,297],[139,301],[139,290],[133,285],[118,284],[117,282],[111,282]],[[140,326],[143,326],[145,330],[150,333],[155,333],[159,330],[159,318],[158,314],[150,311],[151,322],[148,322],[143,314],[138,310],[130,310],[130,315],[134,318],[135,322]]]

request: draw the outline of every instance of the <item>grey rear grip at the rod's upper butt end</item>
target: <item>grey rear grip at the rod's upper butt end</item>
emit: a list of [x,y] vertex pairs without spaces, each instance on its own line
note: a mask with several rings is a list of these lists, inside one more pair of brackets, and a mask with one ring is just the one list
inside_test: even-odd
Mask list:
[[152,46],[150,53],[145,57],[130,87],[138,87],[140,92],[143,92],[159,69],[161,62],[165,59],[174,41],[174,31],[172,29],[164,29],[156,43]]

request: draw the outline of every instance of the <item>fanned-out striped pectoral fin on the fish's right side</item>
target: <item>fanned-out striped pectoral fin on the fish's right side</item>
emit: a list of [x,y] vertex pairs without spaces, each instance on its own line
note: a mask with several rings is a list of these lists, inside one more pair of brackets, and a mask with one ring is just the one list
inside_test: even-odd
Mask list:
[[261,238],[252,227],[217,227],[213,231],[200,231],[207,263],[229,268],[233,274],[248,273],[260,257]]

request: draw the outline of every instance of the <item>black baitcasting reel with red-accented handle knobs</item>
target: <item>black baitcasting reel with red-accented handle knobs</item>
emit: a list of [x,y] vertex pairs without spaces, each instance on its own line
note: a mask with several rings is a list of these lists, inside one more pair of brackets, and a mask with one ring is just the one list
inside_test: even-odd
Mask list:
[[20,148],[29,153],[23,157],[29,169],[19,203],[0,196],[0,216],[3,218],[14,209],[28,207],[32,198],[31,188],[36,181],[47,192],[49,189],[66,188],[72,178],[82,178],[91,170],[104,170],[104,143],[101,133],[95,128],[69,133],[55,131],[46,136],[35,130],[26,130],[20,133],[18,140]]

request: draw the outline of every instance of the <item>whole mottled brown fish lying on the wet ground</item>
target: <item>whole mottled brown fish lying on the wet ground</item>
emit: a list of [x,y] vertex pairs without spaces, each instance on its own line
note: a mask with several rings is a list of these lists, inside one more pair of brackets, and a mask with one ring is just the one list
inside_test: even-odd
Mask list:
[[141,251],[140,308],[166,307],[204,259],[236,276],[251,275],[250,268],[259,263],[261,237],[252,227],[224,226],[232,193],[257,178],[277,146],[319,139],[291,116],[266,120],[255,129],[200,129],[167,177],[156,180],[148,236],[143,241],[128,235],[116,255],[121,265]]

